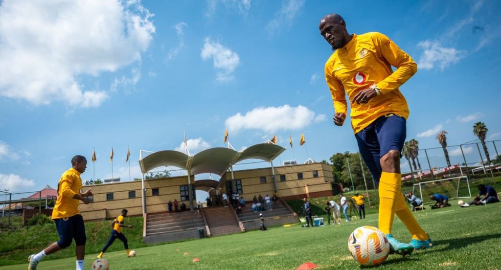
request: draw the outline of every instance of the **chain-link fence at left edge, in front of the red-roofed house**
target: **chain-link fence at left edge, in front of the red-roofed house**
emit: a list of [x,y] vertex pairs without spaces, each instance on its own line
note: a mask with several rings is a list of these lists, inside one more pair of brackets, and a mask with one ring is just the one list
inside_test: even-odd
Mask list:
[[34,216],[40,218],[42,214],[50,214],[55,199],[55,196],[42,197],[42,191],[10,193],[8,189],[0,190],[0,228],[24,226]]

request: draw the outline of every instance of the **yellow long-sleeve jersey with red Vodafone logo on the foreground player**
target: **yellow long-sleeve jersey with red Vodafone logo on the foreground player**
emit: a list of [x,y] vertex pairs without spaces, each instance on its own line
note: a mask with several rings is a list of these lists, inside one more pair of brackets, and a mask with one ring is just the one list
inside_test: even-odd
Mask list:
[[[392,71],[391,66],[397,68]],[[381,33],[353,34],[344,48],[337,49],[325,64],[325,79],[336,113],[347,114],[349,100],[372,85],[381,95],[366,104],[351,104],[351,124],[355,134],[378,117],[396,114],[407,119],[407,101],[398,90],[417,71],[412,58]],[[346,91],[346,92],[345,92]],[[346,94],[345,94],[346,93]]]

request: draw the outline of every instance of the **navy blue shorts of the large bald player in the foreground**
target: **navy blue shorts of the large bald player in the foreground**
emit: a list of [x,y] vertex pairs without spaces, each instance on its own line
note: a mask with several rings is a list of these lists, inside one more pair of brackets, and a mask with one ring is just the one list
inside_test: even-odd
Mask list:
[[405,118],[390,114],[379,117],[355,134],[360,154],[371,171],[376,185],[379,185],[382,172],[379,159],[390,150],[402,152],[406,131]]

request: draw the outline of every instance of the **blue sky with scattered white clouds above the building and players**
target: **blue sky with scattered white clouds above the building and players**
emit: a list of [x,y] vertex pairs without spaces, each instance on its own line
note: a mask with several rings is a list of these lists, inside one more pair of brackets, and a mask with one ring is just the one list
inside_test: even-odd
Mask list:
[[389,36],[418,63],[400,89],[408,139],[439,147],[443,129],[449,145],[464,143],[476,121],[501,139],[500,11],[494,0],[3,1],[0,187],[56,186],[76,154],[90,179],[93,147],[96,178],[111,176],[113,146],[114,176],[128,180],[127,145],[139,177],[140,149],[183,151],[183,130],[192,154],[224,147],[226,126],[236,150],[275,133],[288,147],[291,133],[301,162],[304,132],[314,160],[358,151],[351,127],[332,123],[332,50],[318,31],[328,13],[350,33]]

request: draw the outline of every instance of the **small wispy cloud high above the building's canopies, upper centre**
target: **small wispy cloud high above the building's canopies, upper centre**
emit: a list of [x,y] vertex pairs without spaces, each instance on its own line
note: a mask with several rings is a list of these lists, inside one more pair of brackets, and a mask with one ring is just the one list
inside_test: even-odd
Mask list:
[[205,38],[200,56],[203,60],[212,58],[214,68],[218,70],[216,80],[220,82],[231,81],[233,79],[231,73],[240,64],[240,58],[235,52],[209,38]]

